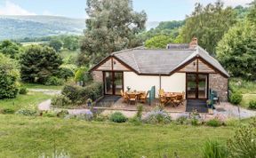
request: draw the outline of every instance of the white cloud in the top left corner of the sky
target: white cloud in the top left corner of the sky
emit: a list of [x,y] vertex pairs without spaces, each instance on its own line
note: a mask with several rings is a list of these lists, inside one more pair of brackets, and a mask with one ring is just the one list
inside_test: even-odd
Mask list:
[[5,1],[5,5],[0,6],[0,15],[36,15],[36,13],[28,12],[11,1]]

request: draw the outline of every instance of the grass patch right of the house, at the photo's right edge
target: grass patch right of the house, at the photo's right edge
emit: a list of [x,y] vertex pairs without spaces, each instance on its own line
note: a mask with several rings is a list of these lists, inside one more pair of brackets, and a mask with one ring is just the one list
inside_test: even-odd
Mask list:
[[243,99],[240,106],[249,107],[249,102],[251,100],[256,100],[256,82],[232,78],[229,83],[234,91],[240,91],[243,94]]

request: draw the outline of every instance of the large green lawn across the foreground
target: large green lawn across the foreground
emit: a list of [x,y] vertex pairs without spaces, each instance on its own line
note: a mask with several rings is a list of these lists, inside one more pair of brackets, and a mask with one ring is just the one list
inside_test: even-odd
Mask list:
[[[174,152],[180,157],[200,157],[207,138],[222,144],[235,127],[139,125],[84,122],[47,117],[0,115],[0,157],[38,157],[65,150],[71,157],[117,157],[117,150],[134,157],[159,157]],[[163,157],[163,156],[161,156]]]

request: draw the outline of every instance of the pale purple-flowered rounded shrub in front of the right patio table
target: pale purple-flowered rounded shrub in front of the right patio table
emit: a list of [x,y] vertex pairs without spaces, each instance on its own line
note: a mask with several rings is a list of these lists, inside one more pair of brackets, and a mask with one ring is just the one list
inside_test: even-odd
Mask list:
[[147,123],[169,123],[171,121],[171,116],[168,115],[168,113],[164,112],[164,110],[161,110],[159,108],[148,112],[148,114],[146,114],[145,118],[143,119],[143,122]]

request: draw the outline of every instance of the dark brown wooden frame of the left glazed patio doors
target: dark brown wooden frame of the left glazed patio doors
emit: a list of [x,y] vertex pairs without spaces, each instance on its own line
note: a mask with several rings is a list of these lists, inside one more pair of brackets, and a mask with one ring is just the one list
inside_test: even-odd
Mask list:
[[[124,91],[124,71],[102,71],[103,73],[103,90],[104,95],[116,95],[116,85],[115,85],[115,73],[121,73],[122,74],[122,90]],[[105,91],[105,85],[106,85],[106,73],[111,73],[111,84],[112,84],[112,94],[107,94]],[[116,95],[118,96],[118,95]]]

